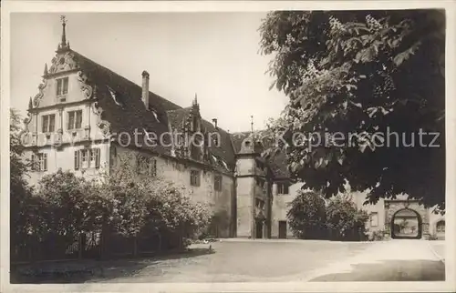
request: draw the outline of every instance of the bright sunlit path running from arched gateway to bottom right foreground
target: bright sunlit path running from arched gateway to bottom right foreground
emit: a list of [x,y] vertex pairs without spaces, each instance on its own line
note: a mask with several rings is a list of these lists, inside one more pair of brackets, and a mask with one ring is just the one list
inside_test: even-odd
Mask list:
[[316,271],[310,281],[445,280],[444,242],[391,240]]

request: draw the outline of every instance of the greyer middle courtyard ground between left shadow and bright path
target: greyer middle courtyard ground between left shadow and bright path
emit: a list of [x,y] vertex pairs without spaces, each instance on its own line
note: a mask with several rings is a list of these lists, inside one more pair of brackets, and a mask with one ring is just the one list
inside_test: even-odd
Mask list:
[[[212,253],[162,259],[133,277],[116,282],[259,282],[304,280],[316,268],[355,256],[369,243],[330,241],[226,241],[212,243]],[[209,245],[193,246],[207,251]]]

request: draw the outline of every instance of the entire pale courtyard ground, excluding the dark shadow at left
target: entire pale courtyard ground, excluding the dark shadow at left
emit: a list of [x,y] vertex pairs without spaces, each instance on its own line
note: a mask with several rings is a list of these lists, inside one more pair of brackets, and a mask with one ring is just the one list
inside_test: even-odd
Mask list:
[[[442,241],[225,240],[189,253],[88,264],[72,282],[444,280]],[[95,266],[95,267],[94,267]],[[54,268],[53,268],[54,269]],[[55,281],[54,281],[55,282]],[[66,281],[67,282],[67,281]]]

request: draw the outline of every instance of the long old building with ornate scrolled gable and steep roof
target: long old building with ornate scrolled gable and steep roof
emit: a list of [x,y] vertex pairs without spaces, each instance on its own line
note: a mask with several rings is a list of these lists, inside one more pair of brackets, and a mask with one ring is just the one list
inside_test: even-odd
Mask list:
[[[292,237],[287,203],[300,185],[288,179],[284,155],[266,160],[252,132],[230,134],[216,119],[203,119],[196,95],[190,106],[175,105],[150,91],[146,71],[139,86],[80,55],[65,28],[64,20],[56,56],[29,101],[24,156],[37,163],[31,184],[58,169],[97,176],[130,154],[140,174],[179,182],[209,204],[215,236]],[[389,227],[394,216],[386,203],[367,208],[370,227]],[[420,236],[430,222],[422,217]]]

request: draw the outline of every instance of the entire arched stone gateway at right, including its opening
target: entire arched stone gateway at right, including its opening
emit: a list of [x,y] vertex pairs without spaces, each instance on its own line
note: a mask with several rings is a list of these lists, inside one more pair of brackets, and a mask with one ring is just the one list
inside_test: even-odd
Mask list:
[[418,200],[385,200],[385,230],[392,238],[429,238],[428,210]]

